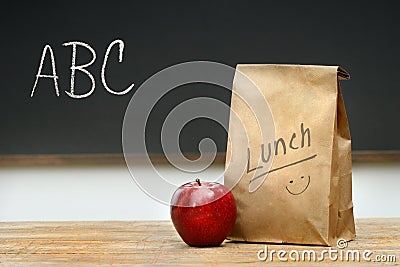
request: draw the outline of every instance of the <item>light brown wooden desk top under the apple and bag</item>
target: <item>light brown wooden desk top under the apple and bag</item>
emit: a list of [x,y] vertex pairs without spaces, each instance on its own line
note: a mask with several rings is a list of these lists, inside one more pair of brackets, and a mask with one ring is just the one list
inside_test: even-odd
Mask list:
[[[357,239],[343,251],[371,250],[371,259],[394,255],[396,262],[386,264],[400,263],[400,218],[359,219],[356,225]],[[284,264],[276,256],[272,262],[259,261],[257,252],[264,247],[265,244],[226,241],[217,248],[191,248],[181,241],[169,221],[0,223],[0,266]],[[287,253],[297,250],[301,254],[304,250],[321,253],[329,248],[268,244],[268,250],[273,249]],[[326,255],[320,263],[332,261]],[[360,263],[338,260],[335,265],[339,263],[366,264],[363,259]]]

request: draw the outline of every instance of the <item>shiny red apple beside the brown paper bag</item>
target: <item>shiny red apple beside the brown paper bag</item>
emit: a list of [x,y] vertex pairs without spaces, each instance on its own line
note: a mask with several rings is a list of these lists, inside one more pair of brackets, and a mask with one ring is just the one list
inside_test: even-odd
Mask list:
[[225,186],[196,179],[173,194],[171,219],[189,246],[219,246],[235,224],[236,202]]

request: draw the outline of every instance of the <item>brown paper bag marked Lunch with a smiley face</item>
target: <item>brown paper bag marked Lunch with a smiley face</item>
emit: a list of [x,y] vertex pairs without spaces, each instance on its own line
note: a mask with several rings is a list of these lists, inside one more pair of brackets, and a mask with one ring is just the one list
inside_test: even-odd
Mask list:
[[[274,131],[256,107],[262,97],[238,73],[268,103]],[[355,237],[351,139],[339,84],[349,77],[338,66],[237,65],[224,177],[237,203],[229,239],[334,246]],[[262,131],[274,134],[263,139]]]

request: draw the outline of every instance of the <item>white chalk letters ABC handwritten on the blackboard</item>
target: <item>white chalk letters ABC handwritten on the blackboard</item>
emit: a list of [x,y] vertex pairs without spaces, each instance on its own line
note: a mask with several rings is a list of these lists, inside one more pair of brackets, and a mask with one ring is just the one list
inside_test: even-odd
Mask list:
[[[70,78],[70,89],[69,91],[65,91],[65,93],[72,97],[72,98],[86,98],[88,96],[90,96],[96,87],[96,82],[95,79],[93,77],[93,74],[90,73],[86,68],[89,67],[90,65],[92,65],[95,60],[96,60],[96,51],[87,43],[84,42],[79,42],[79,41],[72,41],[72,42],[66,42],[62,44],[63,46],[71,46],[72,48],[72,56],[71,56],[71,78]],[[110,45],[107,47],[107,50],[105,52],[104,55],[104,59],[103,59],[103,65],[101,67],[101,82],[104,86],[104,88],[111,94],[114,95],[124,95],[126,93],[128,93],[129,91],[132,90],[134,84],[132,83],[130,86],[128,86],[125,89],[122,90],[115,90],[110,88],[110,86],[107,84],[106,81],[106,74],[105,74],[105,70],[106,70],[106,66],[107,66],[107,61],[108,61],[108,56],[110,54],[111,49],[113,48],[113,46],[115,45],[119,45],[119,58],[118,61],[119,63],[122,62],[122,58],[123,58],[123,51],[124,51],[124,42],[122,40],[114,40],[113,42],[110,43]],[[92,54],[92,59],[85,64],[82,65],[76,65],[76,51],[78,47],[82,47],[85,48],[87,50],[90,51],[90,53]],[[52,69],[52,74],[43,74],[42,73],[42,69],[43,69],[43,63],[46,59],[46,57],[50,57],[50,61],[51,61],[51,69]],[[80,71],[84,74],[86,74],[90,81],[91,81],[91,89],[89,91],[87,91],[86,93],[83,94],[76,94],[75,92],[75,73],[77,71]],[[33,84],[33,88],[31,91],[31,97],[34,96],[35,94],[35,89],[37,88],[39,79],[52,79],[53,83],[54,83],[54,90],[57,96],[60,96],[60,91],[58,89],[58,75],[57,75],[57,71],[56,71],[56,60],[54,57],[54,53],[53,53],[53,49],[49,44],[46,44],[43,48],[42,51],[42,57],[40,59],[40,63],[39,63],[39,68],[38,68],[38,72],[36,74],[36,80],[35,83]]]

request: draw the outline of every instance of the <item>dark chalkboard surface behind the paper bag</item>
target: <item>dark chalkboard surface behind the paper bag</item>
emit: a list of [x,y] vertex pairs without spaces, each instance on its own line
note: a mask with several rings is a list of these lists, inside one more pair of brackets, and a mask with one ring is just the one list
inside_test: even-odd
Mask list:
[[[7,1],[1,21],[0,154],[121,153],[124,112],[137,88],[177,63],[340,65],[355,150],[400,150],[400,16],[396,1]],[[109,51],[106,79],[102,65]],[[96,60],[87,67],[95,89],[70,97],[71,42],[87,44]],[[53,52],[59,96],[52,74]],[[92,59],[77,46],[76,64]],[[88,93],[89,76],[76,71],[75,93]],[[32,95],[32,96],[31,96]],[[160,129],[168,112],[185,99],[230,93],[207,84],[185,85],[160,101],[148,123],[147,147],[161,153]],[[228,120],[228,114],[226,114]],[[184,152],[210,137],[225,151],[227,133],[207,119],[189,123],[180,136]]]

